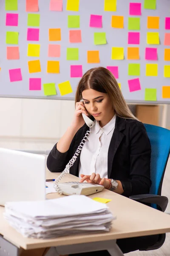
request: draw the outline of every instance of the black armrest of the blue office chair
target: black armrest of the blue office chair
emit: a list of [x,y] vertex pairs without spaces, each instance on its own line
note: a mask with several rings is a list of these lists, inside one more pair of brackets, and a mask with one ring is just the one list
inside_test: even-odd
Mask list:
[[157,204],[158,209],[161,212],[164,212],[166,210],[167,204],[168,204],[168,198],[163,195],[152,195],[152,194],[132,195],[129,198],[141,203]]

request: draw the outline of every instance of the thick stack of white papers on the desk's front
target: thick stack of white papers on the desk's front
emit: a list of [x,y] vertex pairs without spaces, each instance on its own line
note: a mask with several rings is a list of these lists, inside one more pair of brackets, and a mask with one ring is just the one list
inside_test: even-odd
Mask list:
[[33,202],[9,202],[4,217],[25,237],[54,238],[109,231],[114,217],[105,204],[85,195]]

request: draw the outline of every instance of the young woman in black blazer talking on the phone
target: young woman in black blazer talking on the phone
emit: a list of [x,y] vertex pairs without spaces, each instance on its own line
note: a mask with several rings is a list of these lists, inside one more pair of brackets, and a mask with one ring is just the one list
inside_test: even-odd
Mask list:
[[[104,67],[88,70],[79,81],[75,102],[73,121],[48,155],[48,169],[62,172],[73,157],[89,130],[82,118],[85,113],[95,125],[70,173],[81,182],[98,183],[126,197],[149,193],[150,141],[142,122],[130,112],[112,73]],[[117,244],[127,253],[152,245],[157,239],[119,239]]]

